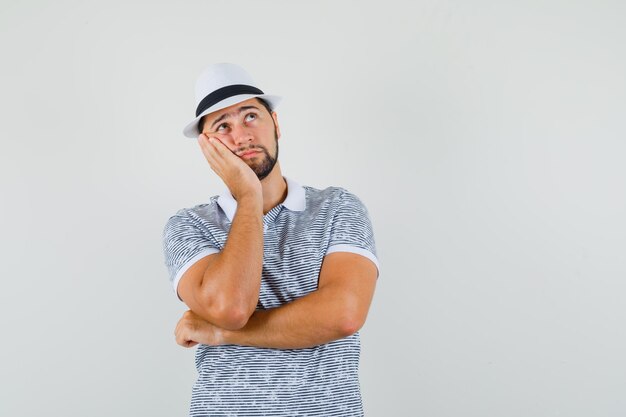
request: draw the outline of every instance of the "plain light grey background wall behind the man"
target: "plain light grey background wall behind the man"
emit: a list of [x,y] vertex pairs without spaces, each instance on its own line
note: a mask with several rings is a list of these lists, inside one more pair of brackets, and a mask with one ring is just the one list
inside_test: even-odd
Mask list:
[[366,415],[625,415],[625,12],[2,0],[0,415],[187,415],[161,233],[221,189],[181,133],[214,62],[369,209]]

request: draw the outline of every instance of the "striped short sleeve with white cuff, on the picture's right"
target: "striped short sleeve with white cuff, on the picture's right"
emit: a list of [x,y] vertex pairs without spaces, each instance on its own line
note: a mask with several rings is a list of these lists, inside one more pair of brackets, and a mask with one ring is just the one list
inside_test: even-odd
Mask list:
[[332,252],[365,256],[374,262],[380,273],[374,230],[367,208],[356,195],[346,190],[343,190],[333,216],[326,254]]

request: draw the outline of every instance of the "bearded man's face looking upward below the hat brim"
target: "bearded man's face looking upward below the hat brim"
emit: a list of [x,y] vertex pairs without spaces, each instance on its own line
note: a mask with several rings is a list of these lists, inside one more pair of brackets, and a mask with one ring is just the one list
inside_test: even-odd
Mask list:
[[272,172],[278,160],[280,128],[276,112],[270,114],[256,98],[206,115],[202,133],[220,139],[259,180]]

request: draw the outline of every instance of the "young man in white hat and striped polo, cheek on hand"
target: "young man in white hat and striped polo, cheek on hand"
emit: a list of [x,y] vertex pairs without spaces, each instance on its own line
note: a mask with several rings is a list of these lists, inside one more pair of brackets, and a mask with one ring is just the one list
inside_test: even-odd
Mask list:
[[284,177],[280,97],[241,67],[196,83],[185,127],[228,192],[179,210],[163,231],[189,310],[176,342],[198,345],[191,416],[362,416],[358,365],[378,278],[367,209],[340,187]]

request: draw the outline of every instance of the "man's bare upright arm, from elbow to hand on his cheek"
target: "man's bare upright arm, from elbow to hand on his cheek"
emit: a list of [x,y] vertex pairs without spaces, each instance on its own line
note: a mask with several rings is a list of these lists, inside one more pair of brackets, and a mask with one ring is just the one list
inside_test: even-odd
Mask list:
[[256,308],[263,268],[263,197],[252,169],[226,146],[200,146],[211,168],[237,199],[237,211],[224,249],[196,262],[181,277],[178,294],[204,320],[240,329]]

